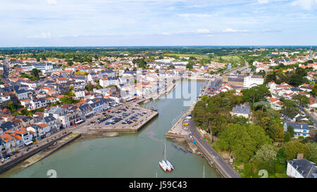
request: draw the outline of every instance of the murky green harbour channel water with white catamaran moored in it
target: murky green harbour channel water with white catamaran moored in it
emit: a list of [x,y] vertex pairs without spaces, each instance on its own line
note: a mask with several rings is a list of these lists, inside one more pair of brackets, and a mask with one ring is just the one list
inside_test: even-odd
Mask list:
[[[155,178],[157,174],[158,178],[199,178],[203,177],[203,169],[205,177],[220,177],[204,158],[183,150],[165,137],[175,120],[189,108],[184,103],[186,99],[178,98],[176,93],[192,89],[191,96],[196,101],[202,82],[190,82],[177,81],[178,86],[167,96],[144,105],[155,106],[159,117],[137,134],[75,141],[30,167],[9,170],[0,177],[49,177],[46,175],[49,169],[54,169],[57,177]],[[159,167],[165,142],[166,158],[175,167],[171,174]]]

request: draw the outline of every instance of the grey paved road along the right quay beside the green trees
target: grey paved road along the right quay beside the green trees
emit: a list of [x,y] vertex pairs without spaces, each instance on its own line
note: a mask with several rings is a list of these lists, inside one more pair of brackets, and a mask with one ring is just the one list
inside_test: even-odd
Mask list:
[[199,132],[196,129],[196,126],[194,124],[194,121],[191,119],[189,120],[189,131],[192,133],[192,136],[196,138],[196,141],[201,143],[202,146],[208,151],[209,155],[213,156],[213,159],[218,162],[219,168],[225,172],[228,177],[231,178],[241,178],[240,174],[238,174],[235,169],[230,167],[230,165],[223,160],[223,158],[218,155],[218,153],[211,147],[210,143],[208,143],[206,140],[202,139]]

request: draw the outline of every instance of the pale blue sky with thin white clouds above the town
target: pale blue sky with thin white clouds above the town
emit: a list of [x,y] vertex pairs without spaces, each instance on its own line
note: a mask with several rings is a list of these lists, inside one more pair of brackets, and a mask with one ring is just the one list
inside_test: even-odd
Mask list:
[[317,45],[317,0],[0,0],[0,46]]

